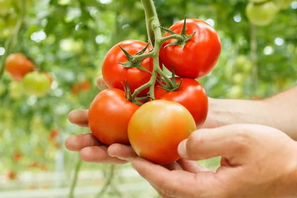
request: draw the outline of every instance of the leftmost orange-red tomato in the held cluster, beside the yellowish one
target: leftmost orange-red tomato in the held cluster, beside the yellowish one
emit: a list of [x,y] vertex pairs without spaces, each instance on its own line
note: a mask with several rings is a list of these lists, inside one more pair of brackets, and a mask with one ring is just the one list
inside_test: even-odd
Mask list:
[[88,122],[93,135],[103,144],[130,145],[128,123],[139,106],[126,99],[125,92],[107,89],[92,101]]

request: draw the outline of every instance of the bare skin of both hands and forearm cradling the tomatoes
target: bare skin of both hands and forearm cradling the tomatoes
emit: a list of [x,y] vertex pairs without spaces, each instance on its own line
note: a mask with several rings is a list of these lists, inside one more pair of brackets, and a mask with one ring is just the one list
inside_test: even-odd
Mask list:
[[[103,90],[107,88],[101,77],[99,77],[97,82],[99,89]],[[234,140],[233,136],[237,137],[238,134],[241,134],[239,139],[242,143],[242,147],[240,146],[240,149],[238,149],[239,151],[235,149],[236,146],[231,150],[236,151],[235,153],[230,151],[229,154],[227,152],[218,152],[215,154],[215,156],[222,156],[222,166],[216,173],[210,172],[194,161],[212,157],[211,155],[203,154],[200,156],[194,154],[192,156],[191,153],[197,153],[195,149],[192,149],[189,152],[190,154],[188,153],[189,156],[184,155],[181,150],[179,150],[182,156],[181,160],[176,163],[157,166],[139,158],[130,146],[114,144],[107,147],[102,145],[92,134],[70,136],[66,139],[65,146],[69,150],[79,151],[82,160],[88,162],[112,164],[131,162],[131,165],[141,176],[148,180],[151,186],[155,188],[163,198],[187,198],[187,196],[193,196],[193,193],[195,193],[195,195],[196,193],[197,195],[199,194],[201,198],[203,198],[204,194],[206,197],[213,195],[207,195],[206,191],[193,192],[193,189],[188,189],[187,191],[184,188],[180,189],[178,183],[172,179],[172,182],[167,184],[168,188],[165,186],[166,188],[164,189],[163,184],[159,186],[160,183],[158,182],[160,181],[155,181],[150,177],[153,174],[149,171],[156,171],[155,173],[160,173],[163,177],[168,174],[172,178],[177,176],[184,177],[182,175],[187,174],[197,175],[198,173],[199,177],[196,177],[200,178],[201,174],[197,172],[197,170],[203,170],[202,172],[206,171],[206,173],[202,174],[202,178],[205,179],[206,175],[212,178],[208,179],[211,185],[215,184],[212,182],[215,182],[218,177],[217,175],[220,175],[221,184],[226,184],[226,186],[224,187],[224,185],[222,185],[222,189],[216,192],[213,191],[213,188],[208,188],[208,193],[220,193],[218,198],[229,198],[230,196],[241,198],[297,197],[294,192],[297,190],[297,166],[295,166],[297,161],[297,147],[294,141],[297,140],[297,122],[294,122],[294,113],[297,112],[296,96],[297,87],[294,87],[270,98],[261,100],[209,99],[208,117],[202,129],[199,129],[193,134],[199,134],[201,130],[202,132],[211,134],[212,130],[212,133],[220,133],[220,130],[226,131],[226,129],[228,129],[228,131],[232,131],[234,134],[227,133],[229,136],[222,139],[232,141]],[[74,124],[88,127],[87,115],[88,110],[74,110],[69,113],[68,119]],[[188,141],[191,140],[191,137]],[[193,145],[195,145],[199,151],[198,145],[201,144],[201,140],[194,140],[196,141],[192,140],[190,142],[193,142]],[[235,140],[237,139],[235,138]],[[214,139],[212,142],[213,141],[219,144],[219,139]],[[180,148],[184,143],[185,142],[182,142],[180,144]],[[248,145],[247,143],[252,144]],[[287,144],[290,146],[286,147],[285,145]],[[232,147],[231,143],[225,145]],[[245,149],[242,149],[244,146]],[[218,147],[216,151],[221,150],[222,148]],[[245,150],[246,152],[244,152]],[[200,152],[198,153],[200,154]],[[261,153],[266,154],[262,155]],[[293,153],[295,153],[295,155]],[[234,156],[232,154],[234,154]],[[230,159],[232,160],[230,161]],[[238,163],[235,159],[238,159],[242,163]],[[234,163],[233,160],[236,162]],[[173,173],[171,173],[172,170],[174,170]],[[175,172],[178,172],[178,174],[175,175]],[[166,176],[165,178],[168,177]],[[188,181],[188,176],[186,176],[186,178]],[[261,178],[261,180],[259,180],[259,178]],[[220,183],[217,183],[217,185],[220,186]],[[292,187],[292,185],[294,186]],[[206,187],[207,186],[205,186],[205,189],[207,189]],[[274,190],[270,190],[271,187],[273,187]],[[224,188],[229,189],[229,194],[226,193],[227,190],[223,191]],[[231,191],[230,189],[233,190]]]

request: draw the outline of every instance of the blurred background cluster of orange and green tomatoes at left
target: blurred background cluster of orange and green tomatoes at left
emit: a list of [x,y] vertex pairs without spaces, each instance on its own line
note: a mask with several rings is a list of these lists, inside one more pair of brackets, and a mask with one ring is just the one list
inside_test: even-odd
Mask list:
[[52,76],[47,72],[39,72],[35,64],[22,53],[9,54],[5,69],[13,80],[9,86],[12,98],[21,97],[22,91],[27,95],[43,97],[50,90]]

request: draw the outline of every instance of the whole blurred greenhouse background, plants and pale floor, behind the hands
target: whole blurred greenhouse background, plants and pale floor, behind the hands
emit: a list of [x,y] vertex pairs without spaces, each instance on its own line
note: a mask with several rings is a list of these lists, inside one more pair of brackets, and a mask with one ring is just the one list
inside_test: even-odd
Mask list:
[[[63,145],[71,134],[90,132],[69,123],[67,114],[87,109],[99,93],[96,79],[105,53],[123,40],[148,41],[141,1],[26,0],[25,10],[23,2],[0,0],[0,197],[155,196],[129,164],[81,162]],[[198,79],[209,97],[260,99],[295,85],[297,1],[157,0],[155,5],[163,27],[187,14],[218,31],[221,57]],[[13,75],[17,64],[26,65],[23,74],[30,75]],[[215,168],[219,159],[201,163]],[[145,186],[137,186],[139,181]]]

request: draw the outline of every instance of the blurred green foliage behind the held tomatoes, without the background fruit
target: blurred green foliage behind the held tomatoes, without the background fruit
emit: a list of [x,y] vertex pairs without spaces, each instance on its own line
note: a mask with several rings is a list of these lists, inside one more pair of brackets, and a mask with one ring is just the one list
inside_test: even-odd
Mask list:
[[[14,3],[5,8],[10,1]],[[46,97],[36,98],[25,95],[21,83],[4,73],[0,84],[0,172],[27,170],[35,161],[54,170],[55,152],[64,149],[65,137],[89,132],[69,123],[67,114],[72,109],[87,109],[99,93],[96,79],[106,52],[123,40],[148,41],[140,0],[27,1],[25,23],[12,52],[25,54],[40,70],[53,75],[54,81]],[[0,0],[0,53],[13,32],[19,4],[17,0]],[[297,1],[280,10],[265,27],[248,22],[247,0],[156,0],[155,5],[163,27],[169,28],[187,14],[218,31],[221,57],[210,75],[198,79],[209,97],[263,98],[294,86]],[[257,44],[256,50],[251,50],[251,44]],[[257,60],[250,58],[252,54]],[[83,81],[89,81],[91,88],[73,93],[73,86]],[[54,129],[59,133],[52,141]],[[17,162],[15,152],[22,154]],[[74,156],[66,152],[67,169],[74,168]]]

